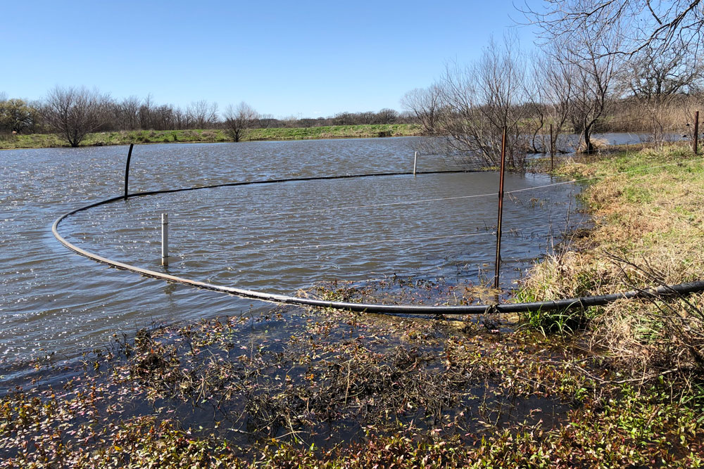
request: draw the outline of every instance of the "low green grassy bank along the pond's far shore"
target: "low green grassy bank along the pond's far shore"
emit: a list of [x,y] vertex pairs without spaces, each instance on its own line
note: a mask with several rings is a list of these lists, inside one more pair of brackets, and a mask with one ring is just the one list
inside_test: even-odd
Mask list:
[[[375,138],[420,135],[415,124],[338,125],[277,129],[251,129],[244,141]],[[88,134],[81,146],[126,145],[129,143],[216,143],[232,141],[222,129],[210,130],[134,130]],[[56,134],[6,135],[0,149],[54,148],[68,146]]]

